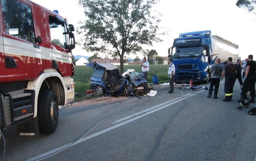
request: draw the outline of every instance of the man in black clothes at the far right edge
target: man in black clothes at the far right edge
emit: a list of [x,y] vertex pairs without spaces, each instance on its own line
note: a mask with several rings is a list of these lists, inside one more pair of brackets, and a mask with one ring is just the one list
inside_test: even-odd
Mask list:
[[250,103],[255,103],[255,82],[256,82],[256,62],[253,61],[253,55],[248,55],[248,62],[246,63],[246,72],[244,77],[244,86],[241,93],[241,98],[238,102],[241,102],[242,99],[245,99],[246,93],[250,91],[251,100]]

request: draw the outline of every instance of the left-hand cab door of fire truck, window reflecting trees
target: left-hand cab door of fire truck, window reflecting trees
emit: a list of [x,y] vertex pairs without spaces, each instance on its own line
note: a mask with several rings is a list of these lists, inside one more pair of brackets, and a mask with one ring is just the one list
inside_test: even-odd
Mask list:
[[42,49],[35,41],[32,5],[26,1],[1,0],[1,3],[6,81],[37,78],[42,72]]

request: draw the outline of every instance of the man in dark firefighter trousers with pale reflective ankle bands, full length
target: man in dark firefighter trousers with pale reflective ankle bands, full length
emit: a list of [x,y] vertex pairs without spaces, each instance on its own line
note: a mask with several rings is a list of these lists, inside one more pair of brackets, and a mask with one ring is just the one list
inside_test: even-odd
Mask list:
[[233,87],[235,84],[235,73],[236,66],[232,62],[232,57],[228,58],[228,63],[224,66],[224,71],[221,74],[220,78],[225,76],[225,83],[224,83],[224,92],[225,92],[225,99],[222,101],[230,102],[233,96]]

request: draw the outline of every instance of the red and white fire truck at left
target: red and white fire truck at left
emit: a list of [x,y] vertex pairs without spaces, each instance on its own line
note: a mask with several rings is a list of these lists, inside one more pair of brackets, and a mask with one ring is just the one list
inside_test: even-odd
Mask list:
[[0,129],[38,120],[53,133],[74,100],[74,26],[31,0],[0,0]]

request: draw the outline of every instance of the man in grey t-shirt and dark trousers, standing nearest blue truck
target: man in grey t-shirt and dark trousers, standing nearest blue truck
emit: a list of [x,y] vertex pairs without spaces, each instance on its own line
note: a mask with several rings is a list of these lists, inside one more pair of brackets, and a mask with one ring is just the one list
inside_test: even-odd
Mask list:
[[219,91],[219,82],[220,82],[220,76],[223,71],[223,66],[219,64],[220,63],[220,58],[216,59],[216,63],[213,64],[210,68],[210,73],[211,73],[211,85],[209,87],[209,94],[208,98],[212,97],[213,93],[213,86],[214,86],[214,96],[213,99],[218,99],[217,94]]

